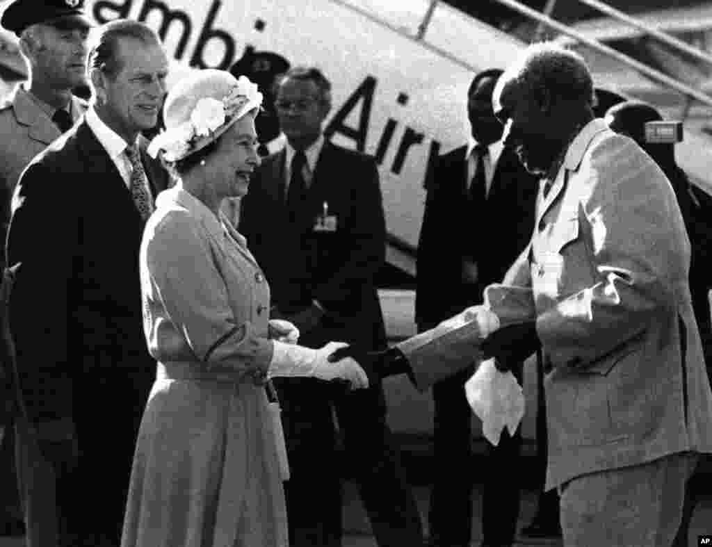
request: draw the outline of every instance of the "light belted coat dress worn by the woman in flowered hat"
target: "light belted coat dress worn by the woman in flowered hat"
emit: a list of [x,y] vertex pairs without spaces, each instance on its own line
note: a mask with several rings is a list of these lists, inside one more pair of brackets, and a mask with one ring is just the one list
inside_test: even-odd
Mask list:
[[286,547],[264,387],[269,287],[230,223],[179,186],[140,251],[157,380],[137,441],[122,547]]

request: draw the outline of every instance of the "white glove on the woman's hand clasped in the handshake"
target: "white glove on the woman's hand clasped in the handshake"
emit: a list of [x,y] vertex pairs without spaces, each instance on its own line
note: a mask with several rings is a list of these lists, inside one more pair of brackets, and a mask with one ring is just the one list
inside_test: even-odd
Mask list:
[[328,356],[348,344],[329,342],[320,349],[284,344],[274,341],[272,362],[268,377],[275,376],[313,376],[320,380],[347,380],[351,388],[367,388],[368,377],[359,364],[347,357],[335,363],[328,361]]

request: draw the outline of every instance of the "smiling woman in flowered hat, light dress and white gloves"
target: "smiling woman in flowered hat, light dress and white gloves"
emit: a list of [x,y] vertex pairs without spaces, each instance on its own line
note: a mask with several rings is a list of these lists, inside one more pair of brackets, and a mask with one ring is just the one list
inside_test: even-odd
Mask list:
[[[262,95],[247,78],[201,70],[164,105],[149,152],[175,180],[161,193],[140,249],[144,330],[157,378],[132,467],[122,547],[288,544],[279,423],[265,381],[342,379],[366,387],[340,344],[308,349],[269,320],[269,286],[245,239],[220,213],[244,196],[259,164]],[[308,500],[305,500],[308,503]]]

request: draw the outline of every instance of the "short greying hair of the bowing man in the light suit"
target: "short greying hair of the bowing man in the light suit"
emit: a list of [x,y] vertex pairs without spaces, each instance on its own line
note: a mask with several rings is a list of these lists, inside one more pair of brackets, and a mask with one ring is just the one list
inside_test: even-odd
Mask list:
[[535,97],[548,95],[555,102],[574,100],[595,105],[593,78],[585,60],[553,42],[528,46],[502,80]]

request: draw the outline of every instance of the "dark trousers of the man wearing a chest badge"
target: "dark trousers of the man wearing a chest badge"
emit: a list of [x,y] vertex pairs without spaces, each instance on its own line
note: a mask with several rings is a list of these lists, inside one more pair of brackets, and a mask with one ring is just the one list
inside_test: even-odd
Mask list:
[[379,547],[421,546],[422,523],[386,423],[382,387],[346,391],[311,378],[275,384],[290,464],[290,546],[341,546],[343,474],[359,486]]

